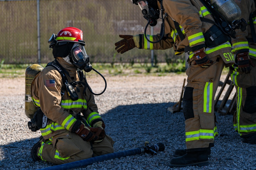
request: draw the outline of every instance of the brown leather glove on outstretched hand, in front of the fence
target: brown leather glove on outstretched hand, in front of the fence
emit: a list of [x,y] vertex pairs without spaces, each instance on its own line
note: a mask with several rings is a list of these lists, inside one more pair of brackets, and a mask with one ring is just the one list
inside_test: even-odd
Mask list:
[[139,35],[119,35],[123,40],[115,43],[115,50],[118,53],[123,54],[126,51],[129,51],[135,47],[139,48],[140,36]]

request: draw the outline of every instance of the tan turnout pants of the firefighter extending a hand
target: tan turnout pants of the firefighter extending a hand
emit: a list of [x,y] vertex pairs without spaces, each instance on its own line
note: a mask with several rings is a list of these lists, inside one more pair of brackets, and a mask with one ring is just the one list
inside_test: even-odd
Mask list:
[[218,134],[215,125],[214,97],[220,81],[224,61],[220,55],[210,58],[208,68],[195,61],[186,70],[187,85],[183,96],[187,152],[203,151],[214,146]]

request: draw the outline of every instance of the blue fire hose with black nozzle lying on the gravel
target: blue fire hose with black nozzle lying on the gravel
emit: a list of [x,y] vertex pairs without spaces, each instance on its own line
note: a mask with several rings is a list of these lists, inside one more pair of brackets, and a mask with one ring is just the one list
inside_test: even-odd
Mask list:
[[56,169],[68,170],[68,169],[74,169],[74,168],[79,168],[82,166],[91,165],[95,162],[102,162],[102,161],[107,161],[107,160],[111,160],[111,159],[115,159],[115,158],[121,158],[121,157],[141,154],[141,153],[148,153],[148,154],[150,153],[151,155],[156,155],[157,151],[164,151],[164,149],[165,149],[165,147],[164,147],[163,143],[149,145],[148,142],[145,142],[145,146],[138,147],[135,149],[109,153],[109,154],[95,156],[95,157],[80,160],[80,161],[70,162],[70,163],[61,164],[61,165],[55,165],[55,166],[41,168],[41,169],[37,169],[37,170],[46,170],[46,169],[47,170],[56,170]]

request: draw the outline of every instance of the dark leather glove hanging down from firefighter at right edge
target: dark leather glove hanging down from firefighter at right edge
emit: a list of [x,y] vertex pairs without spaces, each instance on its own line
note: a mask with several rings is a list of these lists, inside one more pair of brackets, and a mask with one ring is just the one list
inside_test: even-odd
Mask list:
[[245,51],[245,52],[241,52],[241,50],[240,52],[238,51],[236,58],[237,58],[238,69],[240,69],[240,71],[244,72],[245,74],[248,74],[251,72],[250,65],[252,67],[255,67],[254,63],[249,57],[249,51]]

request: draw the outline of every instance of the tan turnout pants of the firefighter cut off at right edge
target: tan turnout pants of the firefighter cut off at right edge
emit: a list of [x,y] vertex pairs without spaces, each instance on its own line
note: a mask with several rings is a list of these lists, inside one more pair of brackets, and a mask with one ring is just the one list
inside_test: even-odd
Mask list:
[[[255,58],[255,57],[254,57]],[[251,58],[256,65],[256,59]],[[233,115],[234,129],[242,137],[256,133],[256,67],[245,74],[237,66],[231,66],[229,73],[236,87],[237,110]]]

